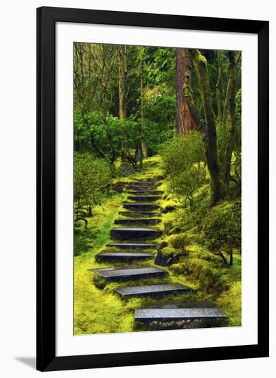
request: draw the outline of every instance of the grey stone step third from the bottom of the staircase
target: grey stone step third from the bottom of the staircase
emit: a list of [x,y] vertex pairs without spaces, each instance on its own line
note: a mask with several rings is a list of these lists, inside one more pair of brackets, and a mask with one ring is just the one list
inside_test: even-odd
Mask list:
[[97,271],[95,274],[108,282],[116,282],[122,280],[139,280],[141,278],[164,278],[168,274],[168,271],[156,267],[143,267]]

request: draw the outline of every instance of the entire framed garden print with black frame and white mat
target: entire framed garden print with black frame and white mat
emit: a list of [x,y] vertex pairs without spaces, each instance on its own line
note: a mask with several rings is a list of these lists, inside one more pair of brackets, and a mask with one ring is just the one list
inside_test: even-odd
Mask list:
[[268,356],[268,21],[37,10],[37,368]]

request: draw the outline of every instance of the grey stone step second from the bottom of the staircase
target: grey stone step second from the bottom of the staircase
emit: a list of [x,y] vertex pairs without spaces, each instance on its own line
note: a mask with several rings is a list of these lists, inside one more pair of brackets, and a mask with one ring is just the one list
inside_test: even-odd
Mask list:
[[161,297],[176,293],[189,293],[189,291],[192,291],[190,287],[180,284],[141,285],[115,289],[115,292],[122,298]]

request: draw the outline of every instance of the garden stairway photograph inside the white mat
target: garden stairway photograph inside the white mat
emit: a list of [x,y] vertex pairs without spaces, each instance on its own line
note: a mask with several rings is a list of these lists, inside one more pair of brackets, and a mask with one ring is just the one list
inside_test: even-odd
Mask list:
[[242,326],[242,52],[72,60],[73,334]]

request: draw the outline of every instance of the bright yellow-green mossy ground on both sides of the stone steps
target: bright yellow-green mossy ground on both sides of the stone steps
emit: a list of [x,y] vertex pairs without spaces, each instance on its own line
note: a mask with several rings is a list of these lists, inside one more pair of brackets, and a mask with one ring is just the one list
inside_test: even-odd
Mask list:
[[[155,156],[146,159],[143,164],[143,171],[135,173],[130,177],[119,178],[117,181],[128,182],[135,180],[146,180],[163,176],[161,158]],[[115,184],[115,183],[114,183]],[[83,225],[75,230],[75,258],[74,258],[74,333],[114,333],[135,331],[134,310],[147,307],[155,302],[170,302],[172,300],[203,300],[214,302],[220,307],[229,318],[229,326],[241,324],[241,256],[236,253],[233,258],[233,266],[223,265],[218,256],[207,251],[200,239],[200,230],[196,224],[185,221],[185,211],[179,206],[172,194],[168,192],[165,180],[159,181],[157,190],[163,190],[163,199],[159,200],[161,205],[161,223],[158,227],[163,231],[158,243],[165,242],[163,251],[176,252],[176,263],[165,267],[168,269],[167,278],[160,280],[164,282],[178,282],[192,287],[192,293],[178,296],[166,296],[163,299],[133,298],[122,300],[113,293],[116,287],[129,285],[129,282],[108,283],[101,289],[97,288],[91,269],[114,266],[111,263],[98,263],[95,255],[106,249],[109,241],[109,232],[113,222],[118,219],[118,212],[122,210],[122,203],[126,200],[126,194],[111,193],[110,197],[104,199],[101,205],[93,209],[93,216],[87,218],[88,227],[84,230]],[[203,186],[200,192],[207,190]],[[222,208],[229,205],[224,201],[218,204]],[[155,226],[153,226],[155,227]],[[174,233],[175,232],[175,233]],[[179,252],[172,247],[172,239],[185,232],[189,238],[187,248]],[[150,252],[150,250],[147,252]],[[156,252],[156,251],[152,251]],[[115,263],[118,267],[127,264]],[[132,266],[152,266],[153,260],[132,264]],[[135,281],[139,283],[159,283],[157,279],[143,279]]]

